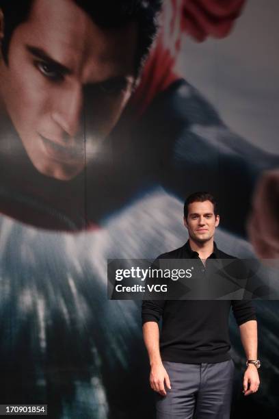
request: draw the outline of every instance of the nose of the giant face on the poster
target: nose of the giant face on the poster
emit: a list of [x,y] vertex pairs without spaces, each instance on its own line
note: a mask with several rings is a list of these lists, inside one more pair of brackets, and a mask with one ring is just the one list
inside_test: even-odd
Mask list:
[[80,86],[72,86],[62,92],[54,103],[51,114],[53,120],[68,136],[73,137],[81,127],[83,91]]

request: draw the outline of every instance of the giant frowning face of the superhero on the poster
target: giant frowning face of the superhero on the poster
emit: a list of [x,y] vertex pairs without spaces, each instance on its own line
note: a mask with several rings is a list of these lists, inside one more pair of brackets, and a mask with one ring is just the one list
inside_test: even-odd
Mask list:
[[34,0],[1,59],[0,95],[40,173],[72,179],[94,157],[131,96],[136,47],[135,23],[101,29],[72,0]]

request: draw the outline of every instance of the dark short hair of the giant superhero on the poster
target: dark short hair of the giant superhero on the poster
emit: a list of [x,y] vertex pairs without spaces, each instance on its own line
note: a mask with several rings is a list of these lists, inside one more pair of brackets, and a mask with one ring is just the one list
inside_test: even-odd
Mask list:
[[[89,14],[99,27],[118,28],[127,23],[139,24],[135,72],[141,68],[158,29],[157,16],[162,0],[72,0]],[[3,58],[8,64],[8,51],[14,29],[27,21],[34,0],[0,0],[4,15]]]

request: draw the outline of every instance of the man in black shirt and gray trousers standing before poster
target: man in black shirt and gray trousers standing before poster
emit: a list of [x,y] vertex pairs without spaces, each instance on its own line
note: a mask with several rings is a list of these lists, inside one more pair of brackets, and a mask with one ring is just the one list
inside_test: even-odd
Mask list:
[[[227,259],[213,241],[220,217],[213,196],[196,192],[184,206],[189,240],[158,259]],[[230,307],[239,325],[247,357],[243,394],[254,393],[260,383],[257,368],[257,322],[251,301],[144,301],[144,342],[150,359],[150,385],[157,396],[157,418],[230,417],[234,363],[228,351]],[[158,322],[162,316],[159,340]],[[160,341],[160,342],[159,342]]]

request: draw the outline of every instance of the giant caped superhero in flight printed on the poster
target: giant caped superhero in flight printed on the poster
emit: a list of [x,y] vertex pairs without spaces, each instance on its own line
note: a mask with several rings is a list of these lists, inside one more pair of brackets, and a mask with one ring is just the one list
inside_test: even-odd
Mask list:
[[[278,255],[278,158],[228,136],[174,72],[183,31],[226,36],[243,1],[197,4],[1,0],[3,214],[79,231],[156,184],[181,199],[211,190],[226,229],[248,227],[259,256]],[[224,136],[191,139],[197,121]]]

